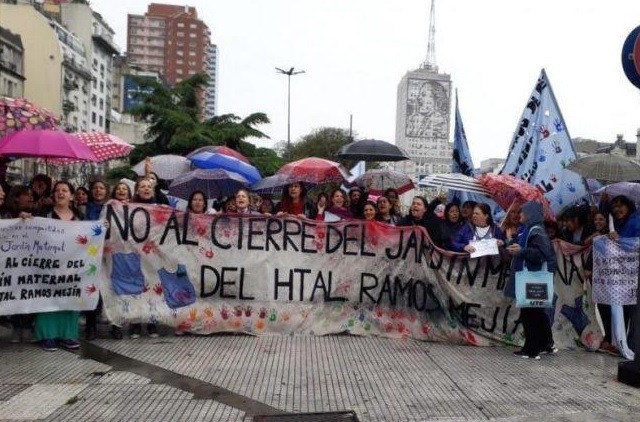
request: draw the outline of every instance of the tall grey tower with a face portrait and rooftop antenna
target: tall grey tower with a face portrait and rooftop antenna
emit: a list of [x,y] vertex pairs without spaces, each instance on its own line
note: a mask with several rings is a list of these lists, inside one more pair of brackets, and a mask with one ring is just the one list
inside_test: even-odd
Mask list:
[[436,64],[435,0],[429,15],[426,58],[400,80],[396,108],[396,144],[411,157],[397,163],[396,169],[416,181],[451,171],[451,77],[440,73]]

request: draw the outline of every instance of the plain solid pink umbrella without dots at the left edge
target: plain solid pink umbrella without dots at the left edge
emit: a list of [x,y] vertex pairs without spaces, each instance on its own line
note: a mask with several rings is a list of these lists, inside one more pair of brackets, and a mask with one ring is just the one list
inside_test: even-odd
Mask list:
[[21,130],[10,133],[0,139],[0,155],[98,161],[93,151],[78,138],[57,130]]

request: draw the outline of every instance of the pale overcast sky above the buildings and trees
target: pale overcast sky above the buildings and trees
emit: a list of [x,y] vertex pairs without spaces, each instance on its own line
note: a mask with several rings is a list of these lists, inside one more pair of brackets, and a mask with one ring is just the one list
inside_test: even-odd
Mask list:
[[[127,14],[146,0],[92,0],[126,48]],[[176,1],[167,1],[173,4]],[[272,146],[315,128],[349,127],[395,142],[398,82],[426,57],[430,0],[191,0],[218,45],[218,114],[265,112]],[[544,67],[569,134],[635,142],[640,95],[621,47],[640,25],[638,0],[440,0],[436,59],[451,75],[476,166],[504,158]],[[452,110],[454,104],[452,103]],[[453,121],[453,119],[452,119]]]

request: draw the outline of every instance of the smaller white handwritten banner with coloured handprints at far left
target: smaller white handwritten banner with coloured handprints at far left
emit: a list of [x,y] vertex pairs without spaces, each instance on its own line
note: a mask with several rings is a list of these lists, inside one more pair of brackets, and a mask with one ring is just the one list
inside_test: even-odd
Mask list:
[[95,309],[104,226],[0,220],[0,315]]

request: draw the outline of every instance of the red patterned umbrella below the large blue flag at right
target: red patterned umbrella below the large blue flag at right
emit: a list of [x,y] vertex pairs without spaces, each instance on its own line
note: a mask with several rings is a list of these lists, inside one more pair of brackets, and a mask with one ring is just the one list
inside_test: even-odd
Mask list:
[[551,205],[544,194],[525,180],[509,174],[485,174],[478,180],[502,209],[508,210],[514,204],[522,205],[528,201],[536,201],[542,204],[545,220],[555,219]]

